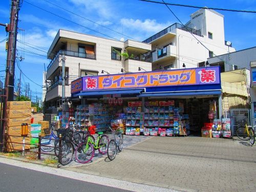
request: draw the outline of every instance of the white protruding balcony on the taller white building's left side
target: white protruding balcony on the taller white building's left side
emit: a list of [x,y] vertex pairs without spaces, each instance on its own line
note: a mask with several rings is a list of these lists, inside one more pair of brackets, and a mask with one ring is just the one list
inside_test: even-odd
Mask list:
[[162,62],[168,59],[168,57],[177,57],[177,48],[173,45],[168,45],[163,49],[159,49],[152,53],[152,62]]

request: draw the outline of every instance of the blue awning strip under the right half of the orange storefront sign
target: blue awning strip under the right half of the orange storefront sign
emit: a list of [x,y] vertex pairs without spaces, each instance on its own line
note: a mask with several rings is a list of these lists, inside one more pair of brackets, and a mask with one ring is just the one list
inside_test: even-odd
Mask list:
[[179,97],[179,96],[206,96],[221,95],[221,91],[187,91],[187,92],[158,92],[158,93],[142,93],[138,97]]

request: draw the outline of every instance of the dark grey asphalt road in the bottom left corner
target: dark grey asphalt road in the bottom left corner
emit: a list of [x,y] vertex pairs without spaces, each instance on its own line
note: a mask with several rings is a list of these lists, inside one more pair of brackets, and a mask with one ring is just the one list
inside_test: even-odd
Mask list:
[[0,191],[128,191],[0,163]]

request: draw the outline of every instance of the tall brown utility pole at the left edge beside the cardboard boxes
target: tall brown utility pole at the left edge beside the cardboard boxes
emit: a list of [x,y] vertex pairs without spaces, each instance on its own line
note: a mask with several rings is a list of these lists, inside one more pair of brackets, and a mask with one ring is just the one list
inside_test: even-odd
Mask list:
[[3,104],[3,113],[1,114],[1,127],[0,127],[0,152],[3,151],[3,138],[6,130],[6,107],[7,101],[13,101],[14,91],[14,73],[15,73],[15,59],[16,59],[16,39],[18,28],[18,12],[20,9],[19,0],[11,1],[10,11],[10,24],[6,26],[6,32],[9,33],[8,37],[8,50],[6,59],[6,77],[5,77],[5,102]]

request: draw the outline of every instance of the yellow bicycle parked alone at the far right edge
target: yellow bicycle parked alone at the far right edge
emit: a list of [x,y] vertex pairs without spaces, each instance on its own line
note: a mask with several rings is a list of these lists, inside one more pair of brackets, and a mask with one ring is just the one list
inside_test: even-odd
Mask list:
[[250,144],[253,145],[254,144],[254,129],[256,127],[255,126],[250,126],[250,125],[247,125],[246,123],[246,120],[244,119],[243,120],[243,124],[242,126],[240,126],[238,129],[237,129],[237,136],[242,139],[242,140],[250,140]]

